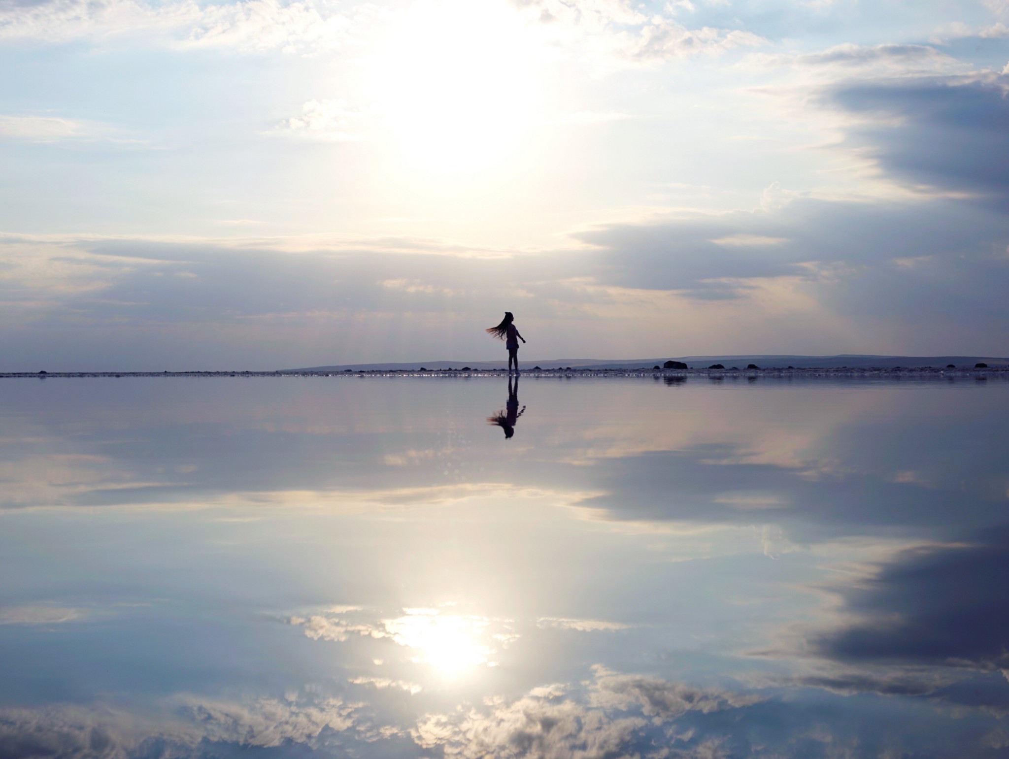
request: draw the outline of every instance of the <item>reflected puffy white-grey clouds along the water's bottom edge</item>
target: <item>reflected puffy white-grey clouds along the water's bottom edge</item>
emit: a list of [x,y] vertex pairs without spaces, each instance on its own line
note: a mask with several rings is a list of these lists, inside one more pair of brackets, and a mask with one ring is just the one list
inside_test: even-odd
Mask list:
[[[360,679],[361,684],[384,687],[374,678]],[[536,687],[517,699],[492,698],[480,708],[460,703],[446,714],[421,715],[412,728],[412,718],[403,715],[406,729],[376,721],[369,704],[298,690],[284,698],[177,694],[154,706],[133,703],[129,709],[101,703],[6,708],[0,709],[0,754],[10,759],[140,759],[284,748],[327,755],[372,755],[378,749],[416,756],[436,751],[474,758],[659,757],[670,756],[670,751],[672,756],[712,756],[703,754],[704,747],[722,739],[704,733],[717,732],[720,726],[680,729],[677,720],[687,714],[708,719],[757,702],[727,691],[599,668],[585,686]]]

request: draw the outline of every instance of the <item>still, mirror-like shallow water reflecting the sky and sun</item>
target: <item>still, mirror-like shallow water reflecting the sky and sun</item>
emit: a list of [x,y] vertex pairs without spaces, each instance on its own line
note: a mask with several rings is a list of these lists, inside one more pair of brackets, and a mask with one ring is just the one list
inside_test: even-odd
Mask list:
[[1009,383],[2,391],[0,756],[1009,750]]

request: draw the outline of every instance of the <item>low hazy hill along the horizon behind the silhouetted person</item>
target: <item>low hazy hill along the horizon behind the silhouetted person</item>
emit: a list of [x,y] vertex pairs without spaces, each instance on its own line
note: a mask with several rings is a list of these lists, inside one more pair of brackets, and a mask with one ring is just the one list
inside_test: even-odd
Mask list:
[[[599,358],[536,358],[523,360],[522,366],[542,366],[543,368],[557,368],[558,366],[567,368],[652,368],[656,364],[662,365],[663,361],[673,359],[683,361],[692,369],[705,368],[712,363],[721,363],[727,366],[739,366],[745,368],[748,363],[755,363],[761,368],[773,368],[794,366],[795,368],[834,368],[848,366],[849,368],[869,368],[877,366],[881,368],[892,368],[894,366],[937,366],[946,364],[963,368],[971,368],[974,364],[983,362],[989,366],[1009,366],[1009,358],[999,358],[996,356],[886,356],[886,355],[851,355],[843,353],[832,356],[804,356],[804,355],[707,355],[707,356],[663,356],[661,358],[625,358],[625,359],[599,359]],[[472,369],[501,369],[507,365],[506,361],[411,361],[407,363],[345,363],[332,366],[308,366],[299,369],[284,369],[285,371],[391,371],[400,369],[403,371],[416,371],[417,369],[459,369],[469,366]]]

